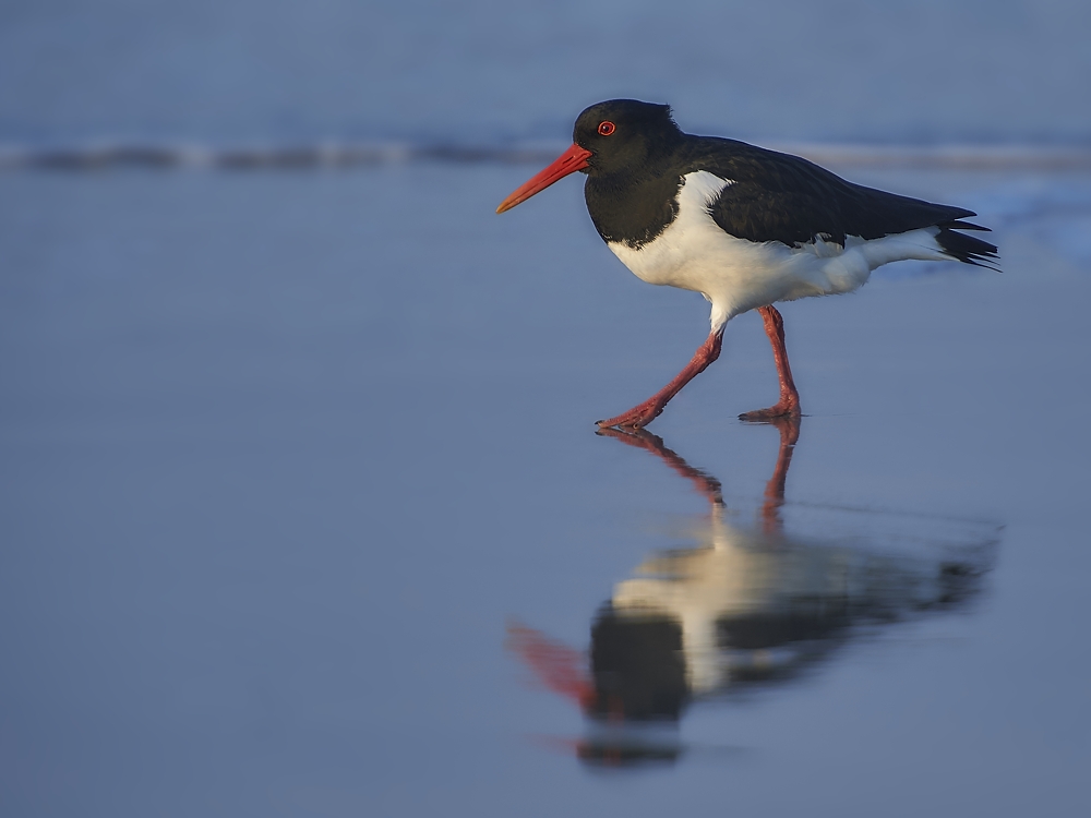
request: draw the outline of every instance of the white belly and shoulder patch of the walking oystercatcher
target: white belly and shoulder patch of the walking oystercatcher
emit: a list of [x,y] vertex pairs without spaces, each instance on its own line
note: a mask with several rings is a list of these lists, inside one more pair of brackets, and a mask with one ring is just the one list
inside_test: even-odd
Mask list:
[[642,280],[703,293],[712,302],[714,329],[776,301],[851,292],[888,262],[948,257],[935,241],[938,228],[873,240],[849,237],[843,248],[818,239],[796,248],[738,239],[723,232],[708,209],[729,184],[706,170],[686,173],[678,216],[662,233],[638,249],[608,244]]

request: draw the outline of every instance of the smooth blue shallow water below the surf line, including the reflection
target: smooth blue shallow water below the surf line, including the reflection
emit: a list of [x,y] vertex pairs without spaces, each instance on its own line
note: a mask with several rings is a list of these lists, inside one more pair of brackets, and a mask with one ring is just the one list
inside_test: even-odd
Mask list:
[[786,305],[789,465],[751,315],[596,435],[707,305],[532,170],[4,177],[4,814],[1086,811],[1091,178],[840,168],[1005,272]]

